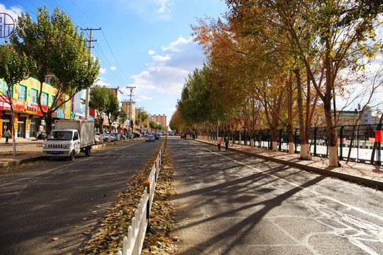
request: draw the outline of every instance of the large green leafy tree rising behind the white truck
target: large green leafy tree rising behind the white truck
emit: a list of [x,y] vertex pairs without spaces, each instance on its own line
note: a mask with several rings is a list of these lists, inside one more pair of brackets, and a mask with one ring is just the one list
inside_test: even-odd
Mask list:
[[[99,74],[99,61],[91,57],[86,38],[77,31],[66,13],[55,8],[50,16],[45,6],[38,7],[36,22],[31,21],[28,13],[22,13],[16,33],[11,37],[18,52],[25,52],[34,60],[29,71],[40,81],[38,104],[47,123],[47,132],[52,129],[52,113],[74,94],[89,88]],[[52,83],[56,93],[52,99],[48,98],[50,103],[45,111],[41,99],[47,74],[54,74],[57,79]]]

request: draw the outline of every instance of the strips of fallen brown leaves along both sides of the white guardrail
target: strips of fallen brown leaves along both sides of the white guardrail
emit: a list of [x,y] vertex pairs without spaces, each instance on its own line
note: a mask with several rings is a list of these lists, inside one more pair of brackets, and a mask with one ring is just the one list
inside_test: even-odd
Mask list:
[[[91,239],[79,251],[79,254],[117,254],[121,249],[123,237],[128,234],[131,218],[134,216],[144,191],[143,182],[148,179],[158,152],[160,152],[160,146],[145,164],[144,169],[133,176],[126,191],[118,194],[118,201],[113,207],[107,208],[109,212],[104,218],[99,219],[99,228],[92,233]],[[150,233],[145,235],[141,254],[174,254],[177,251],[174,243],[178,238],[170,234],[177,225],[173,220],[175,208],[169,200],[175,194],[172,183],[172,166],[172,159],[165,147],[150,211]],[[89,234],[89,232],[84,234]]]

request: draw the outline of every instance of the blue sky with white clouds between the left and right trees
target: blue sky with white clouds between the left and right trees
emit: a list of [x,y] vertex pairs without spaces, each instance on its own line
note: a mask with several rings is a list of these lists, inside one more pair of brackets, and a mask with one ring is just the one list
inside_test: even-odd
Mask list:
[[[227,11],[221,0],[1,0],[0,13],[16,20],[28,12],[35,21],[38,6],[50,14],[58,6],[79,29],[94,29],[91,53],[101,66],[96,84],[121,89],[123,101],[130,98],[127,87],[135,87],[136,107],[165,114],[168,123],[185,79],[205,60],[190,26]],[[84,33],[89,38],[89,30]]]

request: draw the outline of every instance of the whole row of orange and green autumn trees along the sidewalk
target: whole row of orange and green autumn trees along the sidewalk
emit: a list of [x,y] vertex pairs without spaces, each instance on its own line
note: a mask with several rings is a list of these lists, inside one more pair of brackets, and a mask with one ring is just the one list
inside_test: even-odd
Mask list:
[[[369,74],[366,69],[374,57],[382,57],[377,33],[382,28],[381,1],[226,4],[225,21],[198,19],[198,25],[191,26],[206,63],[189,75],[171,128],[172,123],[190,130],[242,125],[250,137],[268,128],[276,150],[277,130],[284,126],[289,152],[294,153],[293,128],[298,125],[301,159],[310,159],[309,128],[323,113],[329,166],[338,166],[335,99],[360,100],[363,111],[382,86],[380,72]],[[365,88],[355,96],[353,84]]]

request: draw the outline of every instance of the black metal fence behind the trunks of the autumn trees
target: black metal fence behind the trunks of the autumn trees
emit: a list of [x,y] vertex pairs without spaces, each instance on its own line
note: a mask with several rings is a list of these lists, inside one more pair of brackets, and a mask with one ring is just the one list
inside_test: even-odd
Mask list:
[[[375,164],[381,166],[382,125],[344,125],[337,129],[338,156],[340,160]],[[216,140],[216,132],[211,133]],[[233,134],[233,142],[250,146],[251,137],[245,131]],[[252,137],[256,147],[272,148],[271,131],[257,130]],[[314,157],[328,157],[328,137],[326,127],[313,127],[309,130],[310,152]],[[294,129],[294,152],[300,152],[301,137],[299,128]],[[278,130],[277,147],[279,151],[288,151],[289,135],[287,130]]]

